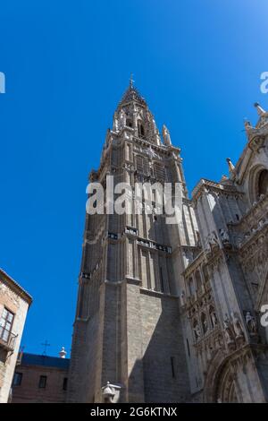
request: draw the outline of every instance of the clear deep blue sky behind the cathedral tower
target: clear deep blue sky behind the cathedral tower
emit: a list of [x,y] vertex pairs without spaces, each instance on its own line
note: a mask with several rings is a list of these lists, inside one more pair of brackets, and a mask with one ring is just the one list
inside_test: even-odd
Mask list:
[[29,290],[21,345],[71,348],[86,185],[130,73],[181,147],[188,188],[218,180],[268,107],[265,0],[0,4],[0,266]]

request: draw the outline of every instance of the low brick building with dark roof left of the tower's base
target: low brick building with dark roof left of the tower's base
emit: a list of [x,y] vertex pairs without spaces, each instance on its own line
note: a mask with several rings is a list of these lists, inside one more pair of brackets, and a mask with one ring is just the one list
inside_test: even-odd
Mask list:
[[64,403],[70,360],[23,353],[13,378],[12,403]]

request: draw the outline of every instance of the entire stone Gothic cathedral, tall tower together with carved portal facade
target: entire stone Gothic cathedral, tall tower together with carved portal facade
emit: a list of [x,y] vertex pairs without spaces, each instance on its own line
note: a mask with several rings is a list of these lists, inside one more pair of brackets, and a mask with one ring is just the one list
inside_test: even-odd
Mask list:
[[190,199],[180,149],[130,82],[90,182],[106,191],[113,176],[133,203],[138,183],[177,185],[180,219],[146,193],[138,212],[87,213],[68,401],[268,400],[268,113],[255,107],[238,164]]

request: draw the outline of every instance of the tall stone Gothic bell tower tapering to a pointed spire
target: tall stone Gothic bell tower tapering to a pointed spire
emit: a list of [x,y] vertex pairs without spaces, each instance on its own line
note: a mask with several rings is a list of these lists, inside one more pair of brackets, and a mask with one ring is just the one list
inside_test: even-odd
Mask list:
[[106,189],[106,176],[113,176],[114,185],[132,187],[137,182],[178,183],[182,219],[166,225],[155,202],[147,214],[146,196],[140,214],[87,214],[68,400],[102,402],[110,382],[120,390],[114,400],[121,402],[188,401],[180,273],[198,252],[197,223],[180,150],[172,146],[165,126],[161,139],[132,82],[90,181]]

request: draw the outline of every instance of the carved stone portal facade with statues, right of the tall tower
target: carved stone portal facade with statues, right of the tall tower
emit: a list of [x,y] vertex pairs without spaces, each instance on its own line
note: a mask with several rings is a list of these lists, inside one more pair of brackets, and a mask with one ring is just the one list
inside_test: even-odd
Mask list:
[[247,144],[220,183],[193,192],[201,253],[183,272],[180,314],[191,391],[205,402],[268,400],[268,113],[246,122]]

